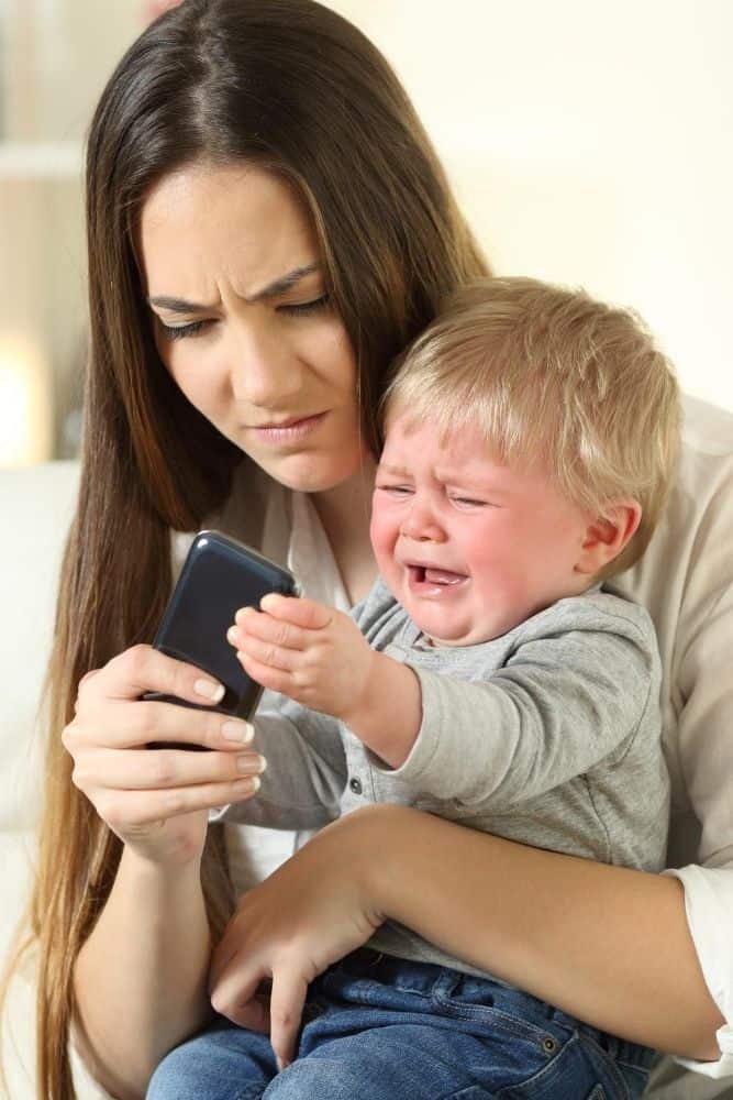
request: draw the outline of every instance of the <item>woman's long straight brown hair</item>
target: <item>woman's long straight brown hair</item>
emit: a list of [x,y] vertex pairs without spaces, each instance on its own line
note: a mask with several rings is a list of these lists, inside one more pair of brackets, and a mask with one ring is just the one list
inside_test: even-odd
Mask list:
[[[46,678],[47,781],[31,902],[37,1094],[47,1100],[74,1096],[74,964],[121,855],[71,782],[59,735],[85,672],[152,640],[171,585],[170,529],[200,526],[225,499],[235,466],[248,461],[163,367],[135,263],[146,195],[202,161],[266,166],[308,204],[327,289],[357,353],[371,448],[389,361],[446,293],[487,270],[389,65],[312,0],[186,0],[141,35],[107,85],[88,139],[81,475]],[[230,911],[215,904],[226,868],[220,831],[209,832],[202,878],[216,935]]]

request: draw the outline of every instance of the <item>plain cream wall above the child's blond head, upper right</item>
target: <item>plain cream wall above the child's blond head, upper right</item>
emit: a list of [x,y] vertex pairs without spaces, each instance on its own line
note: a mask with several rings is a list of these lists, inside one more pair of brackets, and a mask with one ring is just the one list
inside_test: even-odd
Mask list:
[[331,7],[398,69],[495,268],[634,306],[733,409],[733,4]]

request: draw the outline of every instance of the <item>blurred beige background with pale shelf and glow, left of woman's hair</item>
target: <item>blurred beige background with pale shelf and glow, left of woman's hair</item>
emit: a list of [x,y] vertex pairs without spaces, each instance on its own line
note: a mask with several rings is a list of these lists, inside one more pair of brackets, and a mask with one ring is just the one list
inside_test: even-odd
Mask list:
[[0,465],[68,454],[86,356],[81,143],[137,0],[0,2]]

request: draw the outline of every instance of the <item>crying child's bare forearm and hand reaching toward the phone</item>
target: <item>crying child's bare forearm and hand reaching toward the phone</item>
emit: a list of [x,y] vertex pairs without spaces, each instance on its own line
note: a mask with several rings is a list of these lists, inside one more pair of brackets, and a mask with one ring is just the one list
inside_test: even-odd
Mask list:
[[378,653],[348,615],[313,600],[269,595],[237,612],[236,645],[257,683],[341,718],[390,768],[410,755],[422,722],[420,683]]

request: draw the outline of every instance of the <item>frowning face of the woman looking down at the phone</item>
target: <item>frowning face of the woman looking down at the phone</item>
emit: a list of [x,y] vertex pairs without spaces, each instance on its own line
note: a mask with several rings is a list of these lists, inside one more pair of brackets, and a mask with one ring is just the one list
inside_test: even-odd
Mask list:
[[355,473],[355,355],[293,191],[247,164],[193,165],[151,191],[138,243],[158,352],[189,402],[291,488]]

